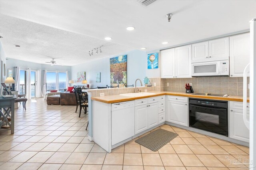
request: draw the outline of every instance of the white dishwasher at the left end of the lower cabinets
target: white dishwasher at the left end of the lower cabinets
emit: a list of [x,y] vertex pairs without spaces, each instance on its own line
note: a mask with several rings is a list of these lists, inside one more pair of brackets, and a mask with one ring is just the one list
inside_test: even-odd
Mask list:
[[135,135],[134,105],[134,100],[111,104],[111,145]]

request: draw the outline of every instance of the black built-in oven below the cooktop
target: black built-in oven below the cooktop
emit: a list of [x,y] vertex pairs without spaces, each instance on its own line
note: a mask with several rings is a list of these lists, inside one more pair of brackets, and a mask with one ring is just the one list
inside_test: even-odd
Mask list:
[[228,136],[228,102],[189,98],[189,126]]

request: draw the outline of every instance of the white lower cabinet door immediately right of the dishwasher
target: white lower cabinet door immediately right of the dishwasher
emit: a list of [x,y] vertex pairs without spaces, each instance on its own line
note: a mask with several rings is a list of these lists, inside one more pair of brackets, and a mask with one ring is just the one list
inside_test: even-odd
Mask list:
[[147,105],[135,107],[135,134],[148,129],[148,107]]

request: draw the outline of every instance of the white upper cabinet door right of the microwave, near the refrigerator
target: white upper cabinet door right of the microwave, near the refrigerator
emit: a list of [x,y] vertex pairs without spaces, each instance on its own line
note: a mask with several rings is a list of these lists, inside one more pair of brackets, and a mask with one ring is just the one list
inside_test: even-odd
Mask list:
[[245,66],[250,63],[250,33],[235,35],[230,41],[230,76],[242,77]]

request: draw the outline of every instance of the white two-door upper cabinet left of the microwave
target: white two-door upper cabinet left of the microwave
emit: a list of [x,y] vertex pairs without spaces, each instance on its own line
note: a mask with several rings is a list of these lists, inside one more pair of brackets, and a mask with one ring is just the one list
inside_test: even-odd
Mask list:
[[162,50],[161,78],[190,78],[191,45]]

